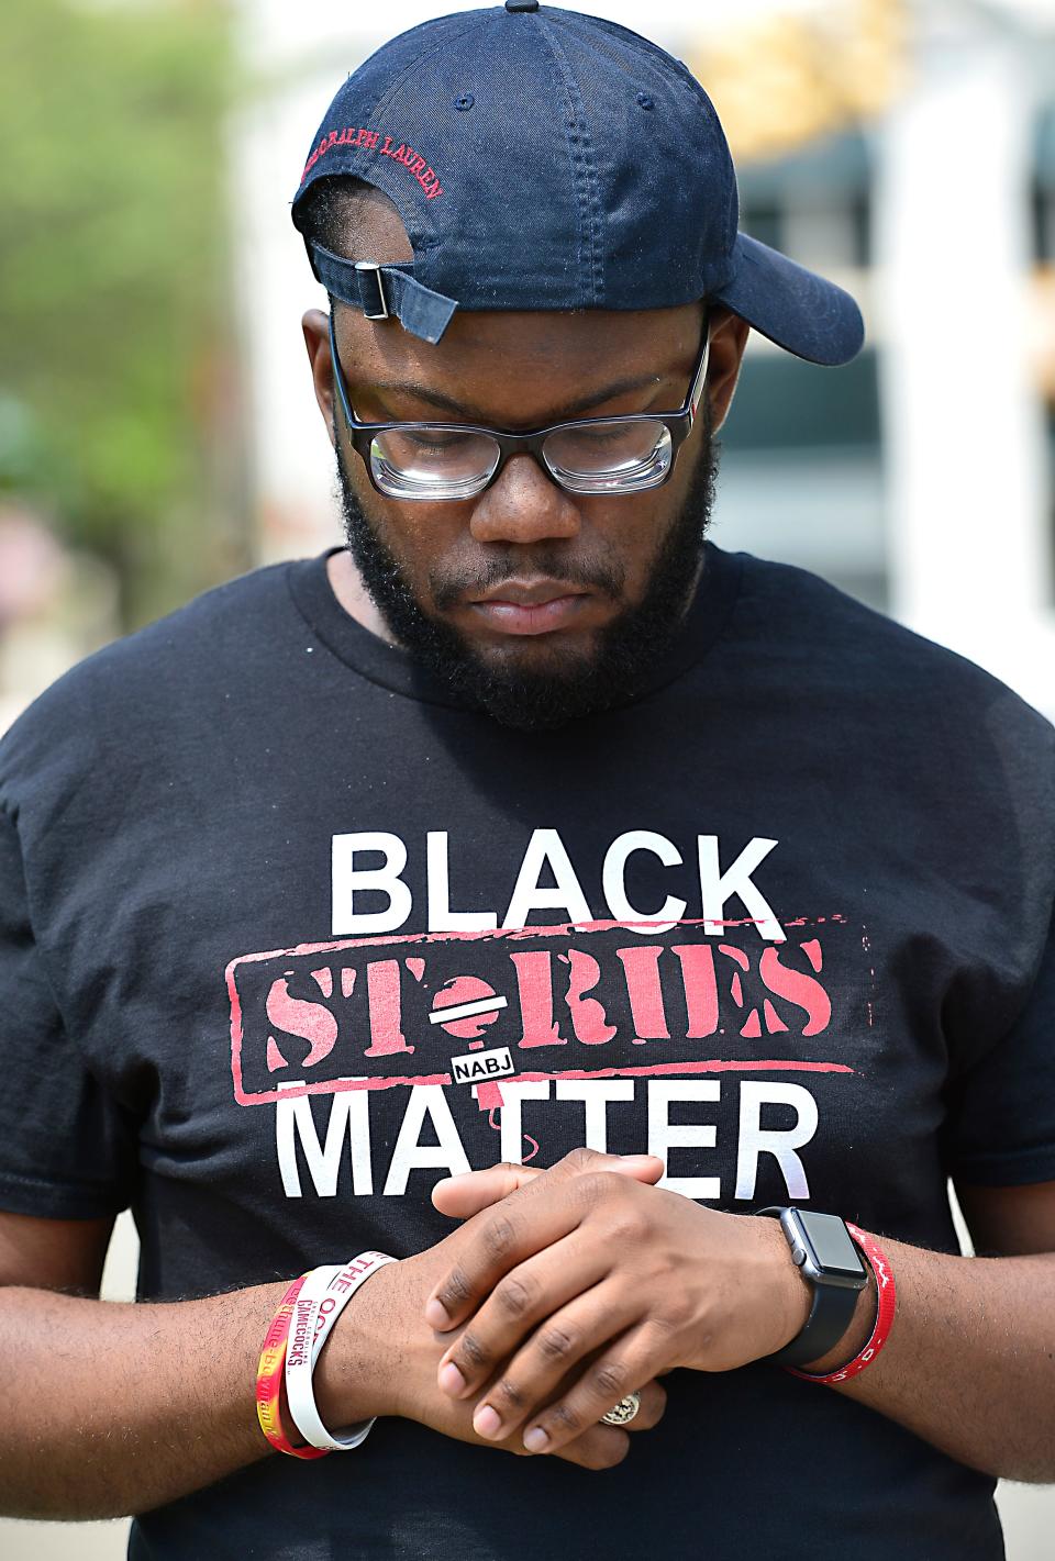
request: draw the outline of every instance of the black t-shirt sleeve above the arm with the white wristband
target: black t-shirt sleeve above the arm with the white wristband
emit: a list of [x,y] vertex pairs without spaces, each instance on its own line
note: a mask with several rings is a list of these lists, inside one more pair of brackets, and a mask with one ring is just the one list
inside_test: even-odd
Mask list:
[[95,1219],[131,1202],[134,1132],[84,1065],[33,932],[19,835],[0,807],[0,1208]]

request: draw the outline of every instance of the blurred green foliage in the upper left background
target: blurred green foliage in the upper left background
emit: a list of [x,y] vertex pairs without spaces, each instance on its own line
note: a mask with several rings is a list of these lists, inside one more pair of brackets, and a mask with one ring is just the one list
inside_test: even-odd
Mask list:
[[0,6],[0,495],[109,559],[128,624],[240,562],[225,5]]

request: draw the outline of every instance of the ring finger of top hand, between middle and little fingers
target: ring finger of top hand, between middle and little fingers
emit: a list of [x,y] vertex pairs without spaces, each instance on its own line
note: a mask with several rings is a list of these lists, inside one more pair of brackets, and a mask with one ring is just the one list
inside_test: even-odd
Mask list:
[[[574,1383],[562,1389],[568,1374],[574,1374],[576,1378],[593,1377],[596,1364],[587,1364],[577,1372],[574,1367],[581,1366],[587,1355],[637,1324],[640,1316],[640,1299],[627,1294],[615,1280],[606,1280],[584,1296],[576,1296],[560,1311],[546,1317],[523,1349],[517,1350],[509,1364],[488,1383],[473,1413],[476,1435],[501,1441],[531,1416],[538,1417],[549,1399],[567,1400],[574,1391]],[[610,1357],[610,1350],[604,1350],[604,1355]],[[645,1380],[651,1375],[651,1371],[645,1372]],[[618,1386],[615,1378],[613,1386]],[[596,1414],[584,1419],[581,1430],[599,1421],[621,1397],[623,1392],[613,1392]]]

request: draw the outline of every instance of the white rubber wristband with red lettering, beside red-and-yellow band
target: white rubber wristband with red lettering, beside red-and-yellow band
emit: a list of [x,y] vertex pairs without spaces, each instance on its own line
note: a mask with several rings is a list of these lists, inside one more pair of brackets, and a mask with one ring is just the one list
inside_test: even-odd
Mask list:
[[359,1447],[367,1439],[373,1428],[373,1421],[362,1421],[359,1425],[350,1425],[343,1431],[331,1435],[315,1408],[312,1371],[329,1338],[329,1330],[359,1286],[385,1263],[395,1261],[384,1252],[361,1252],[343,1268],[329,1264],[312,1269],[297,1297],[298,1308],[304,1310],[295,1310],[290,1319],[290,1342],[286,1352],[286,1397],[289,1399],[290,1417],[311,1447],[325,1447],[326,1452],[351,1452],[353,1447]]

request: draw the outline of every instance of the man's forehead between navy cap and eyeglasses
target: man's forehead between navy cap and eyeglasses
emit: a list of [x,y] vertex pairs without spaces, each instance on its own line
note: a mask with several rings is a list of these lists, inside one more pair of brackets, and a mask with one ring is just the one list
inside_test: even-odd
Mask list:
[[464,312],[437,345],[396,320],[373,323],[337,304],[337,348],[350,381],[417,386],[496,420],[545,420],[626,379],[673,382],[685,393],[702,331],[702,306],[640,312]]

